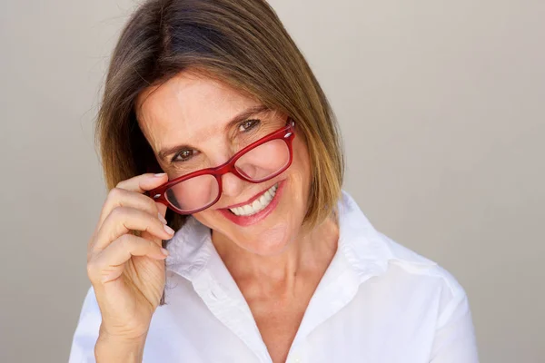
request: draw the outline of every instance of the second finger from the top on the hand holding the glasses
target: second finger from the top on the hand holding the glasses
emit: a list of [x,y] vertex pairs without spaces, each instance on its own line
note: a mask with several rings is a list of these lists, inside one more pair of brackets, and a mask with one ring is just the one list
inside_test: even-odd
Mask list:
[[159,212],[157,203],[147,195],[115,187],[108,192],[103,210],[101,211],[99,221],[96,225],[96,231],[100,229],[106,217],[117,207],[134,208],[146,211],[151,215],[157,215]]

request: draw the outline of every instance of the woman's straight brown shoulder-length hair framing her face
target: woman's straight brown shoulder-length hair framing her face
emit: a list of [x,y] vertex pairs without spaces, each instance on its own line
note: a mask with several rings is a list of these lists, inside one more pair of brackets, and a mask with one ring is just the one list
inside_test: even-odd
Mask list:
[[[162,172],[141,132],[137,96],[195,68],[292,117],[312,170],[308,227],[341,196],[338,126],[320,84],[271,6],[263,0],[149,0],[131,16],[115,46],[96,123],[108,190],[144,172]],[[167,211],[174,230],[183,217]]]

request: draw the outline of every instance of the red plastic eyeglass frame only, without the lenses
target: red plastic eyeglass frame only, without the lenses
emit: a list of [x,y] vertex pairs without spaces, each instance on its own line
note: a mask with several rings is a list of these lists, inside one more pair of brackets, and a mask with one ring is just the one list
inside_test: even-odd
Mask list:
[[[222,197],[222,192],[223,192],[222,176],[224,174],[232,172],[234,175],[236,175],[238,178],[242,179],[245,182],[252,182],[254,184],[258,184],[260,182],[269,181],[275,176],[282,174],[282,172],[285,172],[290,167],[290,165],[292,165],[292,161],[293,161],[292,142],[293,142],[293,138],[295,137],[294,129],[295,129],[295,122],[292,120],[290,116],[288,116],[286,120],[286,125],[283,126],[282,129],[279,129],[275,132],[271,132],[268,135],[263,136],[261,139],[255,142],[252,142],[248,146],[244,147],[242,150],[235,152],[234,155],[227,162],[223,162],[223,164],[219,166],[201,169],[199,171],[190,172],[188,174],[176,177],[172,181],[166,182],[162,186],[154,188],[151,191],[148,191],[148,195],[152,199],[154,199],[154,201],[162,202],[164,205],[166,205],[168,208],[170,208],[171,210],[175,211],[178,214],[189,215],[193,213],[198,213],[199,211],[204,211],[205,209],[212,207]],[[259,181],[253,181],[251,179],[248,179],[242,173],[236,170],[236,168],[234,167],[234,163],[237,162],[241,157],[243,157],[245,153],[250,152],[256,147],[263,145],[263,143],[265,142],[271,142],[273,140],[283,140],[283,142],[286,143],[286,146],[288,147],[288,150],[289,150],[289,155],[290,155],[289,161],[286,163],[284,167],[282,167],[281,170],[279,170],[278,172],[274,172],[270,176]],[[218,183],[217,197],[215,198],[214,201],[207,204],[203,208],[195,210],[195,211],[190,211],[190,212],[179,211],[175,206],[173,206],[173,204],[170,201],[168,201],[168,198],[165,197],[166,191],[172,188],[174,185],[178,184],[179,182],[184,182],[186,180],[189,180],[198,176],[202,176],[202,175],[212,175],[216,179],[216,182]]]

